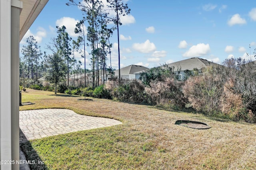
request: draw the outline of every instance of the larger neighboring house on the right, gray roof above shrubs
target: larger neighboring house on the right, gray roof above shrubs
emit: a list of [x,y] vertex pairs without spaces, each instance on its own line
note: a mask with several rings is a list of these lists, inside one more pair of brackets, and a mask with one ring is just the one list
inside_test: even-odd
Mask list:
[[186,78],[186,70],[193,71],[194,68],[197,68],[199,73],[201,73],[202,68],[216,65],[216,63],[207,61],[206,59],[200,59],[200,58],[194,57],[191,59],[177,61],[167,65],[173,68],[173,71],[176,72],[176,74],[178,74],[179,80],[183,80],[184,78]]

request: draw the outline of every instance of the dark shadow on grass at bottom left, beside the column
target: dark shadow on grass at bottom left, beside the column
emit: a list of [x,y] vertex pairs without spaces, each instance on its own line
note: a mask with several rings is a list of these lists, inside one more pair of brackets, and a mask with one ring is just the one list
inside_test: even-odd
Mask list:
[[[23,140],[22,140],[23,139]],[[20,130],[20,149],[26,156],[26,161],[29,162],[30,170],[48,170],[49,168],[44,164],[43,160],[32,147],[30,141],[26,138],[24,133]]]

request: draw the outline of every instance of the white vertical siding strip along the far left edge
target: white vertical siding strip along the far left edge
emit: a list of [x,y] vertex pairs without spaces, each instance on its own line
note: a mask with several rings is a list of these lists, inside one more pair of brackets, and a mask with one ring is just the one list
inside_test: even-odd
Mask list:
[[[11,1],[0,0],[0,160],[12,160],[10,30]],[[10,164],[0,165],[1,170],[11,168]]]

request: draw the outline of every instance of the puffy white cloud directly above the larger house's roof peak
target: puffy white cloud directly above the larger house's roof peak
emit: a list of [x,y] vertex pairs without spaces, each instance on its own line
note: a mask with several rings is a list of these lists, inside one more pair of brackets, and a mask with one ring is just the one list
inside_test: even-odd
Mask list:
[[182,56],[183,57],[202,57],[204,55],[207,55],[210,53],[210,45],[209,44],[204,44],[204,43],[199,43],[197,45],[193,45],[190,47],[186,53],[184,53]]

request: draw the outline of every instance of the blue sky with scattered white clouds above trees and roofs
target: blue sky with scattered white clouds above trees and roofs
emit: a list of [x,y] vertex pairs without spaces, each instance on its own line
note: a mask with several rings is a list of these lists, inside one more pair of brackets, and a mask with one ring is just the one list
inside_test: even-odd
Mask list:
[[[33,35],[42,51],[50,54],[45,47],[51,37],[57,36],[56,25],[65,25],[70,37],[76,40],[74,27],[83,15],[76,6],[66,6],[66,2],[68,0],[49,0],[22,39],[20,49],[26,45],[26,38]],[[124,2],[131,12],[121,18],[121,67],[138,64],[152,68],[192,57],[221,63],[231,57],[245,58],[246,53],[251,51],[252,54],[256,48],[256,1]],[[116,31],[110,41],[113,44],[112,67],[118,68]],[[86,52],[86,66],[90,68],[90,47]],[[75,53],[75,57],[84,63],[79,53]],[[107,64],[110,66],[110,60]]]

